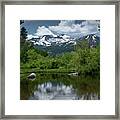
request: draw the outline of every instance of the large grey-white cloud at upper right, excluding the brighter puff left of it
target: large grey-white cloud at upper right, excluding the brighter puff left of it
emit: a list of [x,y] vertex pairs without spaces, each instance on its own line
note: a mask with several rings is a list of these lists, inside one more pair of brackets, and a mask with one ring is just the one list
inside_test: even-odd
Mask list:
[[49,29],[58,34],[66,34],[71,37],[84,36],[88,34],[99,34],[99,21],[86,20],[81,24],[75,24],[75,21],[61,21],[58,26],[49,26]]

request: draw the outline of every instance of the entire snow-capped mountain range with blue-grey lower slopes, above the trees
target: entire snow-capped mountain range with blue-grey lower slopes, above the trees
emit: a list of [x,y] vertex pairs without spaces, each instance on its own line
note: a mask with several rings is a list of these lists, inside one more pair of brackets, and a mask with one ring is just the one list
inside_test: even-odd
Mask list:
[[90,47],[95,47],[100,42],[100,38],[95,34],[89,34],[80,38],[71,38],[68,35],[42,35],[34,37],[28,41],[32,42],[38,49],[47,51],[51,55],[71,52],[74,46],[81,40],[87,40]]

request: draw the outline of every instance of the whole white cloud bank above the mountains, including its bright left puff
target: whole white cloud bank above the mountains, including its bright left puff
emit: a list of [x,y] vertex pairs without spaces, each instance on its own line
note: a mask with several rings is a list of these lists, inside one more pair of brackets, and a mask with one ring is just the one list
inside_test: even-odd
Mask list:
[[75,24],[75,20],[61,20],[56,26],[39,26],[35,35],[53,35],[55,34],[66,34],[71,37],[82,37],[88,34],[99,35],[98,25],[99,21],[86,20],[80,24]]

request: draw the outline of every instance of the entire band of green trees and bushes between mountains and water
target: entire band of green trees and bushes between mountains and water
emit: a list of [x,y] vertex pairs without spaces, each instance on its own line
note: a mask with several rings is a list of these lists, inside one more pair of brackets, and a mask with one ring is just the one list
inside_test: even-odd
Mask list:
[[47,52],[34,48],[30,42],[26,42],[25,45],[24,53],[21,53],[23,69],[75,71],[80,74],[99,74],[100,72],[100,47],[89,48],[86,40],[77,43],[74,51],[57,56],[49,56]]

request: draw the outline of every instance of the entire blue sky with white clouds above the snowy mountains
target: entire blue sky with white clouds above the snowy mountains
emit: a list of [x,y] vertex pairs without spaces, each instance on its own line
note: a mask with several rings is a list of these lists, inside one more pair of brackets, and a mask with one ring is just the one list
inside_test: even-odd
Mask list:
[[23,26],[28,32],[28,38],[60,34],[73,38],[88,34],[100,35],[99,20],[25,20]]

